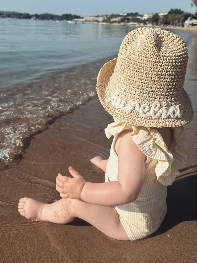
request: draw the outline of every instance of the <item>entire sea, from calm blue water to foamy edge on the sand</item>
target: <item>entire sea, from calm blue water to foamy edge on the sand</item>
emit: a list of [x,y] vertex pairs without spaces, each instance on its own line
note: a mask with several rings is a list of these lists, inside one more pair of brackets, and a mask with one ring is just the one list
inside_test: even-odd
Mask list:
[[[10,165],[26,139],[54,117],[96,96],[99,69],[133,29],[0,19],[1,166]],[[172,31],[187,45],[194,39],[191,33]]]

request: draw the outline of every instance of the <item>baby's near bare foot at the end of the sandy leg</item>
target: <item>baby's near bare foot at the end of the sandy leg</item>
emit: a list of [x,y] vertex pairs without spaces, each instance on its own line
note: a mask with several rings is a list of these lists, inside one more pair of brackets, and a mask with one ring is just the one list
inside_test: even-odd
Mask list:
[[31,198],[24,197],[19,200],[19,213],[31,220],[42,221],[43,207],[44,203]]

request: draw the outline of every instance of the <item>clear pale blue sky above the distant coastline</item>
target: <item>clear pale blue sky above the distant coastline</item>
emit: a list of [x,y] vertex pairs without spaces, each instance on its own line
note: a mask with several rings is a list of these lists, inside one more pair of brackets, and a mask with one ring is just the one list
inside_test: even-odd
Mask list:
[[118,13],[159,13],[171,8],[181,8],[195,13],[191,0],[7,0],[1,1],[0,11],[16,11],[21,13],[71,13],[81,16],[95,16]]

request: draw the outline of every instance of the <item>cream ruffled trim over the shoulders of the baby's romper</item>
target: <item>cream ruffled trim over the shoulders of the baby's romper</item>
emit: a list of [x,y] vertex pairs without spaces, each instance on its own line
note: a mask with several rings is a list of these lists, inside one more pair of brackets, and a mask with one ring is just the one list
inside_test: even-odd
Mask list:
[[187,137],[183,126],[173,127],[173,139],[168,149],[161,134],[153,128],[131,126],[126,123],[115,121],[105,129],[107,138],[116,136],[123,130],[131,129],[131,138],[147,158],[155,159],[155,173],[157,180],[163,185],[171,185],[180,174],[178,169],[182,168],[187,155]]

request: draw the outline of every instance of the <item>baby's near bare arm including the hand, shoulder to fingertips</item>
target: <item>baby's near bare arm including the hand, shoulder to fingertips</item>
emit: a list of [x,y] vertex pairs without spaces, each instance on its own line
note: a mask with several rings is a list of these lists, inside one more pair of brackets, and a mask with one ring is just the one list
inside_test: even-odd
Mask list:
[[56,178],[56,189],[60,196],[112,207],[135,201],[144,182],[145,155],[130,135],[131,131],[121,132],[115,145],[118,154],[118,181],[86,183],[78,172],[69,167],[73,178],[61,174]]

